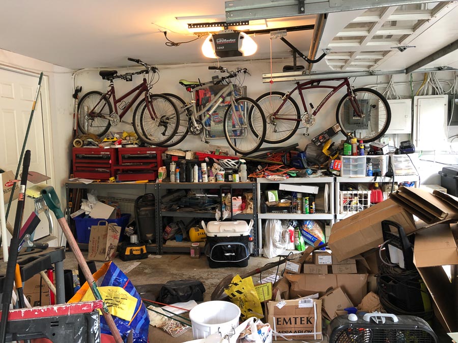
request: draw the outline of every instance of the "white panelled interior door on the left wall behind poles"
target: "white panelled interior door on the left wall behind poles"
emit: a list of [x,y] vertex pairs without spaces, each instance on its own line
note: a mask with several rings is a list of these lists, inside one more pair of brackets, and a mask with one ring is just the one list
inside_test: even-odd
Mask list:
[[[38,76],[23,74],[0,69],[0,168],[16,173],[22,150],[32,105],[38,87]],[[35,113],[27,138],[25,149],[31,150],[30,170],[47,175],[45,159],[45,132],[42,101],[47,97],[43,88],[35,106]],[[45,104],[46,107],[46,104]],[[22,169],[22,166],[21,166]],[[28,182],[27,187],[32,186]],[[8,222],[14,225],[17,200],[13,201],[8,215]],[[6,208],[5,208],[6,209]],[[34,211],[35,204],[31,198],[26,198],[23,223]],[[41,223],[35,231],[34,239],[49,235],[48,221],[44,213],[40,214]]]

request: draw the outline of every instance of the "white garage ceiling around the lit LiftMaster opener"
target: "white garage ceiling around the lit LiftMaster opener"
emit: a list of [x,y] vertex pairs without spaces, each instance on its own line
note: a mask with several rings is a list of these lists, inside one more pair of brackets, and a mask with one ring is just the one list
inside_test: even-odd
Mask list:
[[[8,1],[2,3],[0,11],[0,48],[70,69],[132,65],[127,57],[159,65],[211,61],[201,52],[205,37],[178,47],[165,46],[164,30],[175,42],[195,38],[188,32],[186,21],[176,19],[184,16],[224,21],[224,1],[201,0],[198,5],[189,0]],[[272,19],[268,27],[308,25],[315,18]],[[288,40],[308,53],[311,35],[311,30],[292,32]],[[258,51],[252,59],[270,58],[269,35],[253,39]],[[272,42],[272,55],[292,56],[279,40]]]

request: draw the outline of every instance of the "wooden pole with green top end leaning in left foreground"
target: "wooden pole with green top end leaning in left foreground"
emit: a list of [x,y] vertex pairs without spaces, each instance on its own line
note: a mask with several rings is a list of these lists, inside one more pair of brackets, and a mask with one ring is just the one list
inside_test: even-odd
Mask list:
[[[48,205],[48,208],[54,212],[54,215],[56,219],[58,220],[59,226],[62,229],[62,232],[64,233],[65,237],[67,238],[67,242],[70,245],[70,248],[75,254],[76,261],[78,261],[78,265],[81,267],[81,270],[84,274],[84,277],[86,278],[89,288],[92,291],[92,294],[94,294],[94,298],[96,300],[103,300],[102,296],[99,293],[99,290],[97,289],[97,284],[94,280],[94,277],[92,276],[91,271],[89,270],[88,264],[86,263],[86,260],[81,254],[81,251],[79,250],[78,244],[76,243],[75,237],[73,237],[72,232],[70,231],[70,228],[67,224],[67,221],[64,218],[64,213],[61,210],[61,202],[59,201],[59,198],[57,194],[55,193],[55,190],[52,186],[47,186],[41,191],[41,195],[43,196],[43,199],[46,202],[46,205]],[[123,339],[121,338],[121,334],[119,333],[118,328],[116,327],[115,321],[111,317],[110,313],[108,312],[108,307],[106,306],[105,303],[103,303],[103,309],[102,309],[102,315],[103,318],[106,321],[106,324],[110,328],[111,334],[113,337],[115,337],[115,340],[117,343],[123,343]]]

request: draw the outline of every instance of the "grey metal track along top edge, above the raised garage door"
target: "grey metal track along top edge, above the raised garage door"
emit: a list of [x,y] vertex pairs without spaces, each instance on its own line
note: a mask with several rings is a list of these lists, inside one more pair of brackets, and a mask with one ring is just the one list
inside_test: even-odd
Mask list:
[[226,22],[294,17],[369,8],[438,3],[437,0],[232,0],[225,2]]

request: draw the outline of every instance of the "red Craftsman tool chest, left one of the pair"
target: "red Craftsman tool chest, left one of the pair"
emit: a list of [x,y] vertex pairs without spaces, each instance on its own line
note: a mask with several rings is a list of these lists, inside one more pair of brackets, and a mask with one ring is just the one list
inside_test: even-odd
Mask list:
[[115,148],[73,148],[73,176],[108,180],[115,176],[118,153]]

